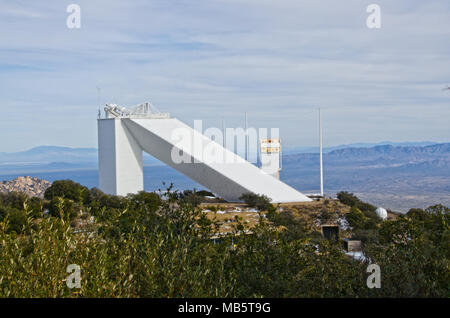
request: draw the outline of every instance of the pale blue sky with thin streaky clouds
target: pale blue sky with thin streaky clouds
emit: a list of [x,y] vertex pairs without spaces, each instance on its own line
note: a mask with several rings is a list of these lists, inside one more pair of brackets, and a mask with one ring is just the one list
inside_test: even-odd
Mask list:
[[319,106],[326,146],[448,141],[449,39],[447,0],[0,0],[0,151],[96,147],[96,86],[190,125],[247,111],[285,146],[317,143]]

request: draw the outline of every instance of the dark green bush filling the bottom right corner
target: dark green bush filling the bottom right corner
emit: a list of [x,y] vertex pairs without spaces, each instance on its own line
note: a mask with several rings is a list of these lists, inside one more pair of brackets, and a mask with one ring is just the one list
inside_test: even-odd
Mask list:
[[366,249],[366,255],[383,271],[383,291],[375,291],[377,295],[448,297],[450,215],[443,206],[426,211],[430,216],[425,222],[421,211],[415,211],[418,214],[413,213],[413,217],[383,222],[382,245],[372,244]]

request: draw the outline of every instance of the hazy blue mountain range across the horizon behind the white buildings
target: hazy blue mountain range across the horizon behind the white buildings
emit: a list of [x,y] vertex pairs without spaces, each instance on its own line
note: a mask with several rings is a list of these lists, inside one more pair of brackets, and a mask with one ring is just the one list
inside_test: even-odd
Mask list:
[[[306,193],[319,189],[319,154],[308,147],[283,152],[281,179]],[[297,149],[297,150],[296,150]],[[325,192],[350,191],[392,210],[443,203],[450,205],[450,143],[353,144],[325,148]],[[173,182],[177,188],[201,188],[158,160],[144,155],[146,190]],[[97,149],[41,146],[0,153],[0,180],[30,175],[54,181],[70,178],[97,186]]]

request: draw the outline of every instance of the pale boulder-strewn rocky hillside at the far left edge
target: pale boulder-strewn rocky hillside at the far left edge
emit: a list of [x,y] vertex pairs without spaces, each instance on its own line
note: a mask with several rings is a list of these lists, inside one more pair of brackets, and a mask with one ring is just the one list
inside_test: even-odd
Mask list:
[[18,177],[11,181],[3,181],[0,183],[1,192],[23,192],[30,197],[44,197],[44,192],[51,185],[46,180],[33,177]]

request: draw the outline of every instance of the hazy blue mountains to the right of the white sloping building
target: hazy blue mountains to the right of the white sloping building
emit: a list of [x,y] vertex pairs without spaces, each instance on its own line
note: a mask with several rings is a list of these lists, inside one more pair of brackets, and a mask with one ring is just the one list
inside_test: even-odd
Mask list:
[[[450,143],[422,147],[345,148],[324,154],[327,194],[355,192],[374,204],[410,207],[450,205]],[[319,155],[283,156],[282,179],[305,192],[319,189]]]

